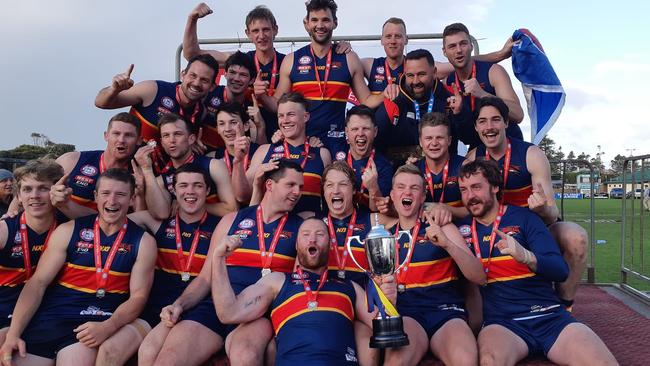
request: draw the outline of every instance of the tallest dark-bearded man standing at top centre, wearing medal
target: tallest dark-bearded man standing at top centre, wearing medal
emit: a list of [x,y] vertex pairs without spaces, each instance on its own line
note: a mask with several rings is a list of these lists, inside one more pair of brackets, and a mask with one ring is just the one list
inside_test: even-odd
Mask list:
[[372,108],[381,104],[383,97],[370,94],[356,53],[333,52],[332,33],[338,25],[336,3],[310,0],[306,7],[303,24],[311,42],[284,58],[275,100],[264,95],[262,100],[274,110],[283,94],[293,91],[304,95],[311,115],[307,135],[318,137],[330,153],[335,153],[345,145],[343,124],[350,89],[361,104]]

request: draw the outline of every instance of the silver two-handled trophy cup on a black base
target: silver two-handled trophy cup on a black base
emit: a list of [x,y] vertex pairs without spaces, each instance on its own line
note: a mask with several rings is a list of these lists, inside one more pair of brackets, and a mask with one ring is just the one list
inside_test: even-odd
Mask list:
[[[375,222],[376,224],[366,236],[366,240],[362,241],[361,238],[356,235],[350,237],[347,243],[345,243],[348,254],[352,258],[354,264],[366,272],[366,274],[370,276],[371,281],[373,277],[392,275],[395,271],[402,269],[404,262],[406,262],[406,258],[409,258],[413,252],[413,245],[409,245],[408,254],[404,259],[404,262],[399,264],[399,252],[396,245],[397,240],[399,240],[402,235],[406,235],[409,238],[409,242],[412,242],[413,238],[411,233],[408,231],[400,231],[397,234],[397,237],[395,237],[386,230],[384,225],[379,223],[378,219],[376,219]],[[366,251],[366,257],[368,258],[369,268],[363,268],[354,257],[351,246],[353,240],[356,240],[359,244],[363,245]],[[372,284],[369,284],[368,286],[372,286]],[[409,344],[408,336],[404,333],[402,317],[399,315],[386,316],[384,318],[381,316],[381,312],[379,312],[377,317],[372,321],[372,329],[373,335],[370,338],[370,347],[372,348],[402,347]]]

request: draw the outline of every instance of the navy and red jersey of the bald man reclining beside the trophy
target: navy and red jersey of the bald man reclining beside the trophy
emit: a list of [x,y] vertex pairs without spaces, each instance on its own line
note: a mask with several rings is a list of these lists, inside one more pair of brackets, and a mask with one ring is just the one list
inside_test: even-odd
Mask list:
[[[280,292],[271,303],[275,331],[275,364],[356,365],[354,319],[356,293],[352,282],[328,276],[316,301],[308,310],[308,296],[298,273],[287,273]],[[319,275],[304,271],[303,278],[315,291]]]

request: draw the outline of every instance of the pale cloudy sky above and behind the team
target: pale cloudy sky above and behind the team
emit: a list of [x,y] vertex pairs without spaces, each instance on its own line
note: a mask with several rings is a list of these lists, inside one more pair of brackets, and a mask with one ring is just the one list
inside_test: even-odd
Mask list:
[[[174,55],[182,41],[189,1],[21,0],[3,2],[0,12],[0,149],[31,143],[32,132],[78,150],[102,149],[102,132],[118,111],[94,106],[97,92],[135,64],[132,78],[174,80]],[[244,18],[254,6],[275,14],[280,37],[303,37],[302,0],[209,1],[214,13],[199,21],[199,38],[245,37]],[[609,162],[617,154],[650,153],[650,117],[642,113],[650,87],[650,26],[646,1],[452,2],[339,0],[335,36],[377,35],[383,22],[401,17],[408,33],[439,33],[453,22],[466,24],[482,53],[501,48],[515,29],[539,39],[567,93],[549,137],[568,154]],[[541,5],[543,4],[543,5]],[[381,56],[375,45],[354,44],[360,57]],[[429,46],[440,60],[440,43],[411,42],[407,51]],[[277,45],[282,52],[291,48]],[[233,46],[219,49],[234,49]],[[521,84],[509,60],[522,106]],[[526,117],[522,130],[530,140]],[[633,152],[627,149],[635,149]]]

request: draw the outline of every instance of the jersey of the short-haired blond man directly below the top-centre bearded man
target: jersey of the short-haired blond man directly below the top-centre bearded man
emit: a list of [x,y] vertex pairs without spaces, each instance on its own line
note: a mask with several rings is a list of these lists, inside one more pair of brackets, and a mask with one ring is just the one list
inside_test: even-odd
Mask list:
[[[305,157],[305,145],[289,146],[289,160],[301,164],[306,158],[307,161],[303,166],[304,173],[304,186],[302,187],[302,195],[300,200],[293,208],[294,213],[303,211],[313,211],[316,213],[321,212],[321,180],[323,170],[325,170],[325,163],[320,156],[320,147],[309,147],[309,154]],[[285,157],[284,144],[277,143],[269,145],[269,150],[264,156],[262,163],[268,163],[271,159],[282,159]]]

